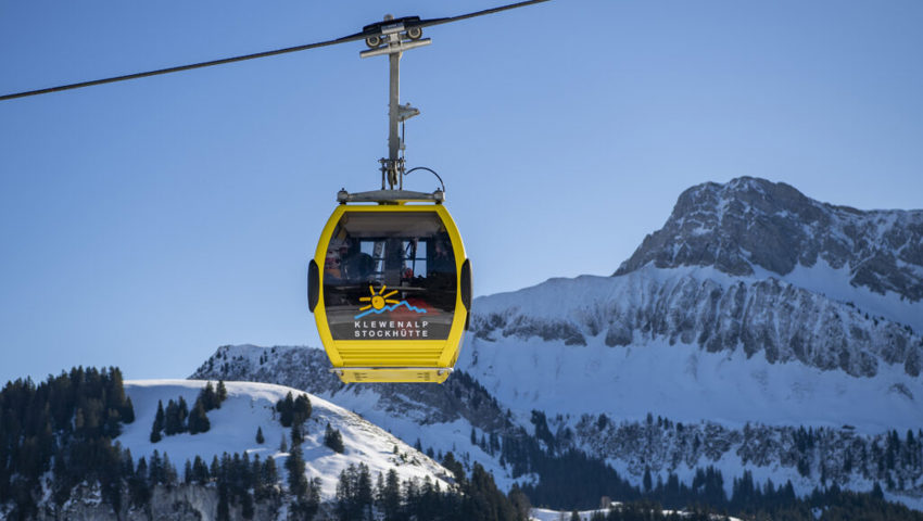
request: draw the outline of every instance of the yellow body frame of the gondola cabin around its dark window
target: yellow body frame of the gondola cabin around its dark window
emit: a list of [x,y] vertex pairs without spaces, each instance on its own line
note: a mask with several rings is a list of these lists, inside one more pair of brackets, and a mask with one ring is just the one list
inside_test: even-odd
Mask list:
[[[455,254],[455,314],[446,340],[334,340],[324,302],[325,257],[334,228],[346,213],[435,212],[452,241]],[[468,310],[462,303],[462,265],[467,258],[462,234],[442,204],[341,204],[327,220],[314,260],[320,267],[320,295],[314,308],[317,331],[333,372],[343,382],[433,382],[442,383],[452,372],[462,348]],[[355,368],[355,369],[351,369]]]

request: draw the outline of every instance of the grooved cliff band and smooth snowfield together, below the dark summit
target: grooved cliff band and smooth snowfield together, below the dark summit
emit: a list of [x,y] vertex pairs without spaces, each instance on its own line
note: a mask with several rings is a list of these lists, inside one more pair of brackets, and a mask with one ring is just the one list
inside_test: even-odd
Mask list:
[[708,267],[553,279],[476,300],[456,367],[522,412],[915,430],[921,338],[852,296]]

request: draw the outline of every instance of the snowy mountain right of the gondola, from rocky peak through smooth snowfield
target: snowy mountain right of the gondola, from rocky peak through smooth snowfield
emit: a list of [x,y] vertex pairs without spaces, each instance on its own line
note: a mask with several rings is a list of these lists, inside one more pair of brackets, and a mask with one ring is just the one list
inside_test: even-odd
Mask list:
[[[476,300],[462,367],[549,414],[915,429],[921,249],[923,212],[831,206],[761,179],[701,185],[614,277]],[[889,254],[899,269],[875,277],[894,283],[862,285]]]

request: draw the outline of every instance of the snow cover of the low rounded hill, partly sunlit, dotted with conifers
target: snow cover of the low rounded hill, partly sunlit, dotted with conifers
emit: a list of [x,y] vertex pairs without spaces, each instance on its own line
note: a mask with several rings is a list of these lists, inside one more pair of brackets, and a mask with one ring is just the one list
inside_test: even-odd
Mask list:
[[[214,383],[216,382],[213,381]],[[305,394],[295,389],[266,383],[225,382],[228,398],[222,403],[219,409],[208,411],[208,432],[194,435],[181,433],[164,436],[157,443],[150,442],[157,401],[162,401],[166,407],[168,401],[177,401],[182,396],[191,406],[204,385],[204,381],[197,380],[126,381],[125,391],[135,406],[136,420],[125,425],[124,432],[116,441],[130,448],[136,459],[141,456],[150,457],[155,449],[161,455],[166,453],[180,473],[185,461],[191,461],[197,455],[206,463],[210,463],[214,456],[220,458],[223,453],[246,453],[251,458],[258,455],[261,459],[271,457],[276,459],[276,466],[285,480],[285,460],[288,453],[282,453],[279,448],[282,437],[286,439],[287,446],[291,447],[290,429],[279,423],[275,405],[289,392],[295,397]],[[440,486],[448,486],[451,474],[426,455],[342,407],[314,395],[308,395],[308,398],[313,411],[305,422],[305,440],[301,448],[304,453],[306,475],[308,479],[320,478],[321,494],[325,498],[332,498],[336,494],[340,472],[351,463],[361,462],[369,467],[372,478],[378,472],[385,474],[393,468],[402,481],[429,476],[439,482]],[[337,454],[324,445],[328,422],[342,434],[345,447],[343,454]],[[257,428],[263,430],[263,444],[256,443]]]

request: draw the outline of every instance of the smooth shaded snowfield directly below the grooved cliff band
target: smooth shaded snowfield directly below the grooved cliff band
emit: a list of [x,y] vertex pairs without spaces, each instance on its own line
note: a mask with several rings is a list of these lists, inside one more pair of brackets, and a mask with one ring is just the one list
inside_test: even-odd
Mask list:
[[539,339],[475,339],[459,365],[505,406],[523,414],[605,412],[643,420],[654,412],[674,421],[709,420],[729,427],[748,421],[848,424],[862,433],[906,432],[923,424],[918,401],[923,387],[895,368],[885,368],[876,378],[855,378],[797,363],[747,359],[743,352],[707,353],[666,342],[608,347],[602,339],[579,350]]

